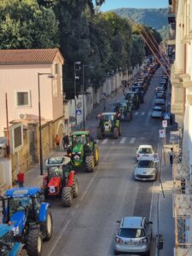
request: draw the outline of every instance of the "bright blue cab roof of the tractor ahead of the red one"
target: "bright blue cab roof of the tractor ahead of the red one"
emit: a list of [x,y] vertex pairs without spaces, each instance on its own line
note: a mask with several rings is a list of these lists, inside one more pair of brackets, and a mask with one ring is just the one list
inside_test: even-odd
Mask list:
[[32,188],[15,188],[8,189],[5,191],[5,195],[8,197],[19,197],[19,196],[28,196],[28,195],[36,195],[41,192],[40,187],[32,187]]

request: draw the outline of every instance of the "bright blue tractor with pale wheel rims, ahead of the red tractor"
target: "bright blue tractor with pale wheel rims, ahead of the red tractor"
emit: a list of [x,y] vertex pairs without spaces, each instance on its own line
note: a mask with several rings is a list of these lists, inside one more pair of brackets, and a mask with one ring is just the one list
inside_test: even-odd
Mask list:
[[42,241],[53,232],[49,203],[41,202],[42,189],[8,189],[3,201],[3,223],[11,223],[17,241],[24,243],[29,256],[42,254]]

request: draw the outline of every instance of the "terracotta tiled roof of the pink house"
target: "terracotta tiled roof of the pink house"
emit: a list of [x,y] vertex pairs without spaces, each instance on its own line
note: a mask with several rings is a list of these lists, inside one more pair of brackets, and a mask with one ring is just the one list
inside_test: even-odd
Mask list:
[[[59,49],[0,49],[0,65],[52,63]],[[61,55],[63,60],[63,57]]]

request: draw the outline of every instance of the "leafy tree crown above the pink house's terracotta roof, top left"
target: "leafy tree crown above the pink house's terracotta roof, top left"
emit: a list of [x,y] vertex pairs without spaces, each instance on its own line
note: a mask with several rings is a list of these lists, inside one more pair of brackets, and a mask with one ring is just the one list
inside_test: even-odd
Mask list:
[[58,21],[52,9],[35,0],[0,2],[1,49],[58,47]]

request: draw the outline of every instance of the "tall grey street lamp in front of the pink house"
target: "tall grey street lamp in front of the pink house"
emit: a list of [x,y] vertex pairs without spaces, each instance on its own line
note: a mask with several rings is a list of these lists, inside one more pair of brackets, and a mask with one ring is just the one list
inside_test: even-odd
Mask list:
[[43,172],[43,152],[42,152],[42,137],[41,137],[41,98],[40,98],[40,76],[48,75],[48,79],[54,79],[54,75],[51,73],[38,73],[38,131],[39,131],[39,162],[40,162],[40,175],[44,175]]

